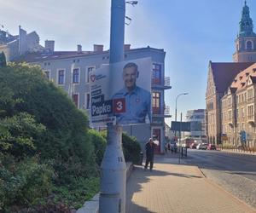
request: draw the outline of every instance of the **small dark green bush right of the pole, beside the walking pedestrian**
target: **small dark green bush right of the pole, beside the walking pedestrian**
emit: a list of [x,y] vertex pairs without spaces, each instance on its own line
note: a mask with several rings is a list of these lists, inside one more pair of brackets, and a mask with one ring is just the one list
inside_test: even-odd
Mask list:
[[123,133],[122,135],[123,152],[125,161],[131,161],[133,164],[139,164],[141,147],[135,137],[130,137]]

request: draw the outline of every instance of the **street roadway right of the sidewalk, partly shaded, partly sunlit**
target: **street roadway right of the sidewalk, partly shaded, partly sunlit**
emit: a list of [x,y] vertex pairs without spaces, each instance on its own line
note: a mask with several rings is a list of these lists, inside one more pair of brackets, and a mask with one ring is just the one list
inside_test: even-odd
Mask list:
[[256,210],[256,155],[188,149],[183,163],[197,165],[207,178]]

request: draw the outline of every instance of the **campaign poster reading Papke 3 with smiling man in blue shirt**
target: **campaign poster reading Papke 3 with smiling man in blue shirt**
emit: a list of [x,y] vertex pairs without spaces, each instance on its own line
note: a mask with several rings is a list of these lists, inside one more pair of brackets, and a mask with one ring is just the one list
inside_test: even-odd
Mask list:
[[90,75],[90,124],[148,124],[152,118],[150,58],[103,65]]

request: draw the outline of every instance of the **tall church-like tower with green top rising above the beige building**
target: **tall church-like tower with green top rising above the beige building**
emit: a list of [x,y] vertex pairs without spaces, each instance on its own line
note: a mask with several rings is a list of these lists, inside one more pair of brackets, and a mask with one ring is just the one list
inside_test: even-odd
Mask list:
[[253,20],[250,9],[245,1],[241,11],[239,33],[236,37],[236,53],[234,62],[256,62],[256,34],[253,32]]

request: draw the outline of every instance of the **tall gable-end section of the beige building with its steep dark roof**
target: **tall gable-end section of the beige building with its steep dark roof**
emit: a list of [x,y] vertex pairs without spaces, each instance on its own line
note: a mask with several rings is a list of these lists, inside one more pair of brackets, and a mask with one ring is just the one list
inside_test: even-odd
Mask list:
[[206,93],[206,133],[207,141],[218,144],[221,142],[221,98],[229,88],[233,78],[253,63],[216,63],[210,61],[208,66]]

